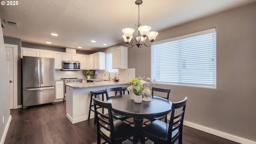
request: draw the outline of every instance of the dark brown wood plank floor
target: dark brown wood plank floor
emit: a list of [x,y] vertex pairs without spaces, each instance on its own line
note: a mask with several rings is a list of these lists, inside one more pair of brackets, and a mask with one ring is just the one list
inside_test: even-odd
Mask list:
[[[12,121],[4,144],[96,144],[94,119],[72,124],[66,102],[11,110]],[[124,142],[126,144],[130,141]],[[178,144],[178,141],[176,142]],[[147,144],[152,144],[147,141]],[[188,126],[183,144],[238,144]]]

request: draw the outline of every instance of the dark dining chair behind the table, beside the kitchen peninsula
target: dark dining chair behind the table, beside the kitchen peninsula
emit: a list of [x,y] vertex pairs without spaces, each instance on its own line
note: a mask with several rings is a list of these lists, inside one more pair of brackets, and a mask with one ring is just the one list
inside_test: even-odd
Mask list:
[[[110,92],[115,92],[114,96],[110,96]],[[117,93],[119,93],[119,95],[117,95]],[[122,96],[122,87],[118,87],[118,88],[106,88],[106,98],[107,100],[110,98],[114,98],[116,96]],[[122,120],[122,121],[126,121],[128,122],[128,124],[133,124],[133,122],[127,120],[130,117],[127,116],[123,116],[120,114],[117,114],[115,112],[112,112],[112,116],[114,117],[114,119],[116,120]]]

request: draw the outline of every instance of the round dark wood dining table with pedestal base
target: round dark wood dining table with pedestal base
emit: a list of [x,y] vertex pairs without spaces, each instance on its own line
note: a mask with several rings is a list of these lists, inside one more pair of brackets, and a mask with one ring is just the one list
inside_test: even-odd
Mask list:
[[150,102],[135,103],[130,99],[130,94],[114,96],[107,100],[112,104],[112,111],[134,118],[134,142],[140,143],[140,129],[143,127],[143,119],[165,116],[172,111],[172,102],[159,96],[150,96]]

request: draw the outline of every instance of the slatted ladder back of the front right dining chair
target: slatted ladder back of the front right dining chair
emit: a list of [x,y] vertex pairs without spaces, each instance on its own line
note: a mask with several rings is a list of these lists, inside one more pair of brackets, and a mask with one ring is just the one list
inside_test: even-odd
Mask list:
[[[169,142],[171,142],[171,141],[175,142],[179,137],[181,137],[179,135],[182,134],[186,101],[187,101],[187,97],[185,97],[183,100],[181,100],[179,102],[172,103],[172,112],[171,112],[171,118],[170,118],[169,128],[168,128],[168,141]],[[174,115],[175,110],[181,109],[181,108],[182,108],[182,111],[179,114]],[[172,138],[172,132],[176,129],[178,129],[179,132],[176,134],[176,136],[174,136],[174,138]]]

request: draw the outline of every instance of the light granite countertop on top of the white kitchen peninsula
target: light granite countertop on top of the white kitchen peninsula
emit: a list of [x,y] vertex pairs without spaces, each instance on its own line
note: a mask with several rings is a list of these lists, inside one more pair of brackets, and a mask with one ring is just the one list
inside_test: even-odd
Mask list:
[[96,86],[110,86],[110,85],[118,85],[118,84],[127,84],[127,82],[126,81],[121,81],[121,82],[103,81],[103,82],[70,83],[65,85],[70,86],[71,88],[90,88],[90,87],[96,87]]

